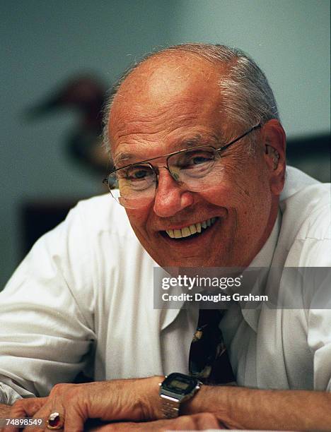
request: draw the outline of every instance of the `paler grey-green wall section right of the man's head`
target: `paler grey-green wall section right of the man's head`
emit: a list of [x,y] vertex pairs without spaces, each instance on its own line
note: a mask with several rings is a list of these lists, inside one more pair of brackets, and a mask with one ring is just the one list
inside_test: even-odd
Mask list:
[[265,71],[288,136],[330,129],[330,1],[183,0],[175,42],[236,46]]

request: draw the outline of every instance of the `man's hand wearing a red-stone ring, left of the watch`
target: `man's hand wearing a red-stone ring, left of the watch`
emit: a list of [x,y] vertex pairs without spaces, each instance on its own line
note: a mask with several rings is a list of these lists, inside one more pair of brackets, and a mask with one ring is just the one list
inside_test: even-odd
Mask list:
[[[48,397],[16,401],[9,416],[47,420],[52,412],[59,412],[64,417],[64,431],[83,431],[86,419],[155,420],[161,418],[158,401],[161,380],[163,377],[57,384]],[[5,431],[18,429],[5,428]]]

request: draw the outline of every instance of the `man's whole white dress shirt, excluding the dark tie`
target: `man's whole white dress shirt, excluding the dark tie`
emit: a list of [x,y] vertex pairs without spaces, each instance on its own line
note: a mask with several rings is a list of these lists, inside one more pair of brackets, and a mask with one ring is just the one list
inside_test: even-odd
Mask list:
[[[331,267],[330,184],[286,174],[250,266]],[[154,266],[110,195],[81,201],[0,293],[0,402],[45,396],[82,370],[95,380],[187,373],[197,310],[153,309]],[[331,295],[319,309],[233,303],[221,329],[238,385],[330,391],[330,309]]]

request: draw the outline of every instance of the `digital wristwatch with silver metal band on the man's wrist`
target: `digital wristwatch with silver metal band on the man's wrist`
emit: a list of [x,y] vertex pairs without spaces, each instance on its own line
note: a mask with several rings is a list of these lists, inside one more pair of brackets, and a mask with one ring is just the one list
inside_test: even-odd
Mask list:
[[175,372],[165,377],[160,383],[158,394],[161,397],[161,409],[165,419],[178,417],[180,404],[193,397],[202,383],[197,378]]

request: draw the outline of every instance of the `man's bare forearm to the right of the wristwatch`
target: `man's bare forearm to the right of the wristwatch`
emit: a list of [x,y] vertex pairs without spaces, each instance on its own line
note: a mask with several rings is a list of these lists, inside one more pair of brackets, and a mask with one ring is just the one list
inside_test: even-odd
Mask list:
[[211,412],[231,428],[331,430],[331,393],[204,385],[182,414]]

